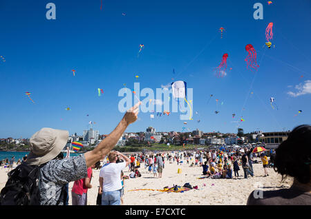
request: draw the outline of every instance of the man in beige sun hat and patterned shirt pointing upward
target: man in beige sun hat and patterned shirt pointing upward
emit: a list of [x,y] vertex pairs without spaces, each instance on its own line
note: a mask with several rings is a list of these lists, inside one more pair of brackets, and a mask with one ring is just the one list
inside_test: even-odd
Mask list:
[[88,167],[102,160],[117,144],[126,127],[138,118],[141,102],[124,114],[120,123],[90,152],[66,159],[55,159],[68,141],[68,131],[44,127],[30,138],[30,153],[26,163],[40,167],[40,205],[64,205],[61,200],[64,185],[88,177]]

